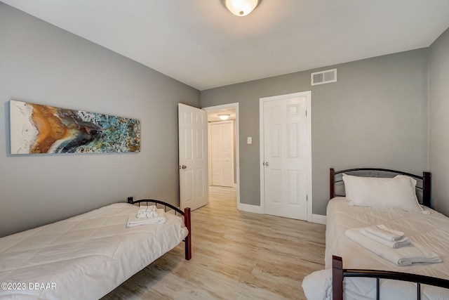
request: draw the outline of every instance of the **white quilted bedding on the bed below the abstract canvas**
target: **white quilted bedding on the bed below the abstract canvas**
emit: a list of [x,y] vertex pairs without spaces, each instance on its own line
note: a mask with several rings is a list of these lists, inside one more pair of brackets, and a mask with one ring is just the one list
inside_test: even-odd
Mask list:
[[164,224],[126,228],[137,211],[111,204],[2,237],[0,299],[100,299],[187,236],[173,214]]

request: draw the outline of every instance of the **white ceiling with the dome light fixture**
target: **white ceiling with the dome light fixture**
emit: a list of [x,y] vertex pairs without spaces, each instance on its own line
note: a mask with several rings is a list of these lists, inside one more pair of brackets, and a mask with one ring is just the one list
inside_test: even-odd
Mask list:
[[1,0],[200,91],[429,46],[449,0]]

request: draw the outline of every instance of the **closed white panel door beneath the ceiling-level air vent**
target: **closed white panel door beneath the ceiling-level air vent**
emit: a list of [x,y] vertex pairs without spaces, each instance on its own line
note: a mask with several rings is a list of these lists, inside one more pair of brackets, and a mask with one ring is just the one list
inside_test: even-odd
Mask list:
[[307,96],[263,103],[265,214],[307,220]]

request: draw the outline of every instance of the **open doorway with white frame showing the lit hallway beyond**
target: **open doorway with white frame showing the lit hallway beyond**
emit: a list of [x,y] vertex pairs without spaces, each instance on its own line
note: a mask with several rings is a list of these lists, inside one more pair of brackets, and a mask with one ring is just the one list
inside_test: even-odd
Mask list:
[[239,103],[203,107],[203,110],[208,113],[209,185],[234,189],[239,207]]

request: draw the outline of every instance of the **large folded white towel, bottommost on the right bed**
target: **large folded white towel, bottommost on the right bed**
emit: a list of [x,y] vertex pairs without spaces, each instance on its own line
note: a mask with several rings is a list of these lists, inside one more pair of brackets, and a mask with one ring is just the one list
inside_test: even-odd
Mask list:
[[360,244],[361,247],[398,266],[410,266],[412,263],[441,263],[438,255],[429,249],[412,244],[398,249],[392,249],[362,235],[360,233],[361,229],[363,228],[349,229],[344,234],[349,239]]

